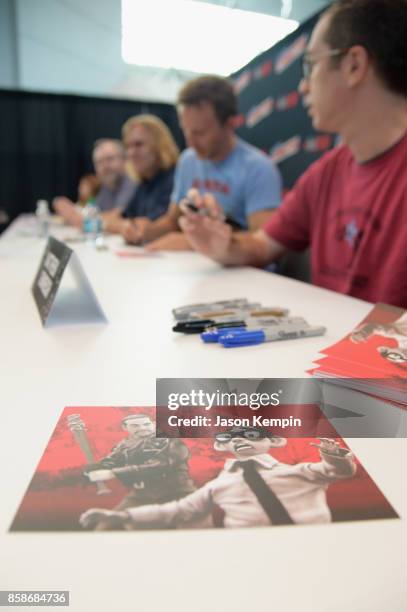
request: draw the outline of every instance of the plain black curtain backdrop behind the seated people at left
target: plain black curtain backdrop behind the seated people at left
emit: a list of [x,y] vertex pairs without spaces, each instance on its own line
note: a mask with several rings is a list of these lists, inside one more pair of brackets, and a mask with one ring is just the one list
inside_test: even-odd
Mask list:
[[37,199],[76,197],[97,138],[120,138],[128,117],[158,115],[184,146],[169,104],[0,90],[0,210],[12,220]]

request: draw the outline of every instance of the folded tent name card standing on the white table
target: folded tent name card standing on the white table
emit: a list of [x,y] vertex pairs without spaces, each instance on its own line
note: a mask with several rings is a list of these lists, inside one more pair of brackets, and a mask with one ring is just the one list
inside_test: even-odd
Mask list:
[[76,253],[53,237],[47,242],[32,293],[44,327],[107,323]]

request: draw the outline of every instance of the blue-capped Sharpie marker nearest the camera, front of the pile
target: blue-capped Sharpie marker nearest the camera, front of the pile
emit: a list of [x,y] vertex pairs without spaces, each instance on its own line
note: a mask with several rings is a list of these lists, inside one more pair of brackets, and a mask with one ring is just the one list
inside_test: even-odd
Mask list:
[[263,344],[263,342],[276,342],[278,340],[293,340],[296,338],[309,338],[312,336],[322,336],[326,332],[326,327],[306,327],[298,330],[270,330],[270,329],[251,329],[244,331],[230,331],[219,337],[218,342],[226,348],[235,346],[252,346]]

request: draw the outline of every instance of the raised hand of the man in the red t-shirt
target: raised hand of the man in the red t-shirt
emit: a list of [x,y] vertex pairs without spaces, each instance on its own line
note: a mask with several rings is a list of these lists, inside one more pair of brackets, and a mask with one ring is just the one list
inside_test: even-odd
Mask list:
[[188,192],[188,199],[202,213],[192,212],[186,201],[180,203],[183,216],[179,225],[187,241],[196,251],[223,262],[232,239],[232,228],[225,223],[222,208],[212,194],[202,196],[195,189]]

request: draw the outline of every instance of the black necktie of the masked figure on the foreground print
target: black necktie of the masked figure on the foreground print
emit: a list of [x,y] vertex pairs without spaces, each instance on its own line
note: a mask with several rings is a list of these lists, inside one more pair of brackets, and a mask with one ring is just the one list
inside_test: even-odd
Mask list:
[[243,478],[257,497],[270,522],[273,525],[293,525],[294,521],[287,510],[257,471],[256,461],[253,459],[237,461],[236,465],[242,468]]

